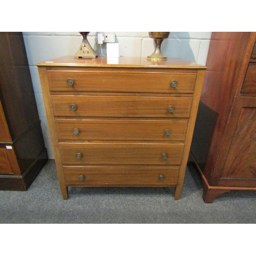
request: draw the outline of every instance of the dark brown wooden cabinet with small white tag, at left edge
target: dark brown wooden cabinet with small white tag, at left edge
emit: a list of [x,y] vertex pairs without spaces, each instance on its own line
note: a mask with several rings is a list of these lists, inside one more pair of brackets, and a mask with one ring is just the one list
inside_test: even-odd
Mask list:
[[20,32],[0,33],[0,189],[27,190],[48,160]]

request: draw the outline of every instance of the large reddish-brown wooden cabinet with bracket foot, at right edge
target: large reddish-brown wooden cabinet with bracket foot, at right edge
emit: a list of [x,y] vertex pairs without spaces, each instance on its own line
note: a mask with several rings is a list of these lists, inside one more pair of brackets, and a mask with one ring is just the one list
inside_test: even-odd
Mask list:
[[191,144],[212,203],[231,189],[256,189],[256,32],[214,32]]

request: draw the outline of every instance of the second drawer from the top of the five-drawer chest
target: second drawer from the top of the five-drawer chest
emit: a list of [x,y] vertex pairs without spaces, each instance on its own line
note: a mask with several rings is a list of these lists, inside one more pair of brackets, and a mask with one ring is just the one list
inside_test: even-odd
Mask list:
[[186,118],[192,104],[189,97],[51,96],[51,101],[54,116],[73,117]]

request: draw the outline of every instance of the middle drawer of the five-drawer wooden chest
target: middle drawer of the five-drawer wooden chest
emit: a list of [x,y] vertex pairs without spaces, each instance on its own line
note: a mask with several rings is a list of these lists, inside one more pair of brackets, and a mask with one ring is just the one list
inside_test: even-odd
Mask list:
[[56,120],[59,140],[185,140],[187,121]]

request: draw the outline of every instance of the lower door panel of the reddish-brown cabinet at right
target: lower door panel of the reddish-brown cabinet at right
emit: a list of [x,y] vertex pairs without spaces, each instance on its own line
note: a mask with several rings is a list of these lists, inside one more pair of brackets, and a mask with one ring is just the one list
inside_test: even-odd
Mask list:
[[237,120],[222,178],[256,179],[256,98],[236,98],[231,116]]

